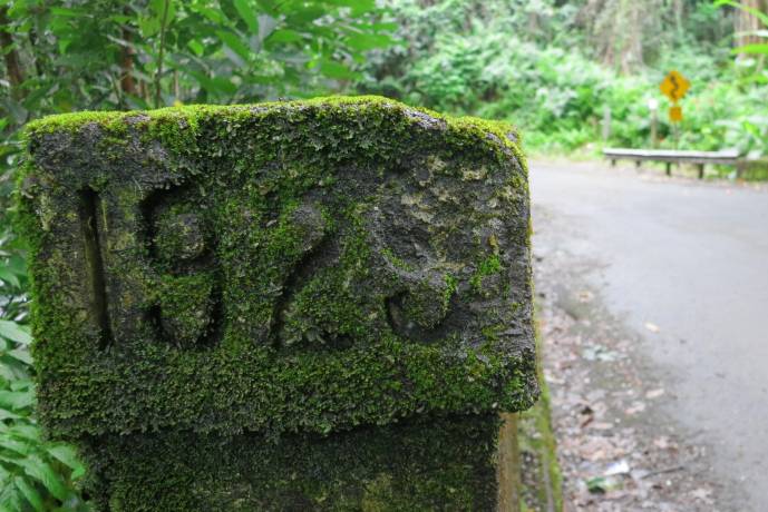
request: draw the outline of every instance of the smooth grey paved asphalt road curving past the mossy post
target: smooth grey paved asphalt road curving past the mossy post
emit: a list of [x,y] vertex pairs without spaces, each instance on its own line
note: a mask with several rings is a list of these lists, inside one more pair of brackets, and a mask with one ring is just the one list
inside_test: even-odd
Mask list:
[[741,510],[768,511],[768,193],[536,161],[531,189],[534,230],[554,218],[609,311],[642,333],[673,420],[711,446]]

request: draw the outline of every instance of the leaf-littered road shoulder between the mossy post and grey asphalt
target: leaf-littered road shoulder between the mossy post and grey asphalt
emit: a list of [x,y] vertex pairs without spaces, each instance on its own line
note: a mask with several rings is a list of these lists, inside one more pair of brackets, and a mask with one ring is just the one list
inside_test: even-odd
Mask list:
[[587,278],[599,264],[560,248],[546,211],[534,216],[543,367],[565,510],[745,510],[737,486],[716,476],[711,449],[665,413],[677,397],[643,355],[642,336],[603,306]]

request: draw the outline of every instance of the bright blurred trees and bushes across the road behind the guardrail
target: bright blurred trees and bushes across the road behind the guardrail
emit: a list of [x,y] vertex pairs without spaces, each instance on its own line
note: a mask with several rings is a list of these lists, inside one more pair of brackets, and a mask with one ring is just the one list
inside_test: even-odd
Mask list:
[[[758,0],[754,0],[758,1]],[[759,0],[765,1],[765,0]],[[718,4],[719,3],[719,4]],[[756,10],[709,0],[398,0],[407,41],[369,57],[359,89],[438,110],[518,125],[529,149],[593,150],[651,144],[649,100],[660,104],[659,141],[673,145],[658,85],[671,69],[692,82],[681,148],[768,150],[765,56],[735,59]]]

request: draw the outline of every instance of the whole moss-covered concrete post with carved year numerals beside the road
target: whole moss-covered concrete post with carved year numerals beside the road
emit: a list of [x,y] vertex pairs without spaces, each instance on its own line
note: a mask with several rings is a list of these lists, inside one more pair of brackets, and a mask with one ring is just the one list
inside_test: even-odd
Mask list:
[[27,135],[38,413],[100,510],[511,501],[500,413],[537,386],[509,127],[325,98]]

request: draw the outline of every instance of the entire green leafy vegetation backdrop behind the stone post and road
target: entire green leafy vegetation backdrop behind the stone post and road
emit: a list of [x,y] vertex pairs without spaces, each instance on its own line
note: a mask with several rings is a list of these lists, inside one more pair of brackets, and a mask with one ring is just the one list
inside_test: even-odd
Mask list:
[[[49,114],[379,93],[518,126],[533,152],[768,152],[768,0],[0,0],[0,512],[86,510],[74,451],[35,419],[21,129]],[[602,138],[610,109],[611,136]]]

